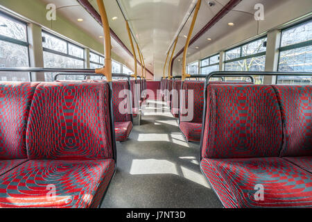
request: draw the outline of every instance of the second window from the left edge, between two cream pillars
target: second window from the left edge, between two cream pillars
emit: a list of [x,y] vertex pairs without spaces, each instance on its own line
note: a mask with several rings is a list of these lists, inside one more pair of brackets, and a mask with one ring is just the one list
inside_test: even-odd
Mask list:
[[[85,50],[60,37],[42,32],[44,67],[60,69],[85,68]],[[53,81],[55,73],[46,73],[46,81]],[[82,80],[84,76],[60,76],[62,80]]]

